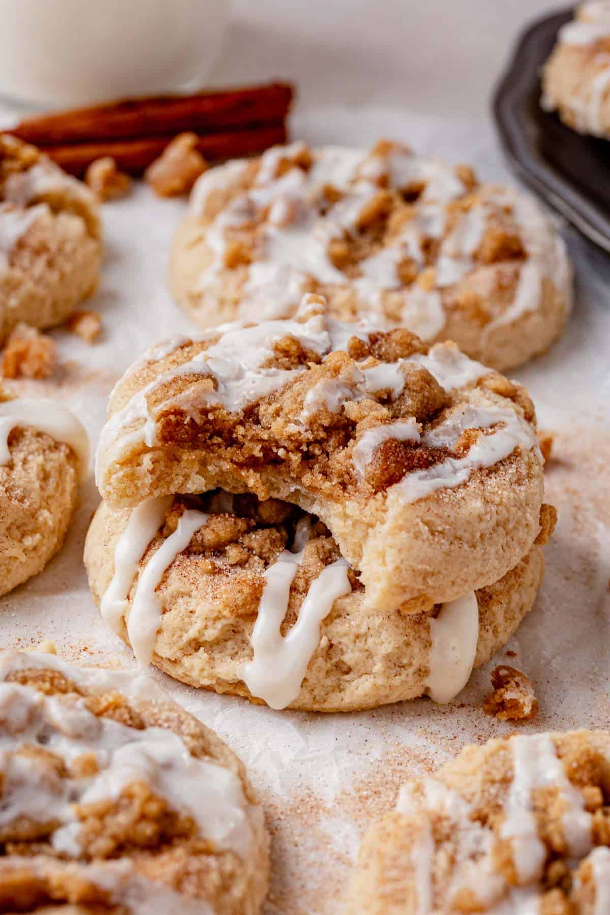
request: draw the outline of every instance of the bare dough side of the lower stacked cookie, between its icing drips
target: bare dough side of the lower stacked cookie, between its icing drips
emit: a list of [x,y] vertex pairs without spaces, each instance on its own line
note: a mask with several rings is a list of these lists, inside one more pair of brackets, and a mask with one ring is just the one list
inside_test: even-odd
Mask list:
[[[98,604],[111,582],[114,547],[130,514],[102,502],[91,522],[85,565]],[[542,550],[534,546],[501,581],[477,592],[480,631],[475,666],[487,662],[517,629],[533,605],[542,573]],[[184,683],[260,702],[252,699],[238,675],[240,664],[252,656],[255,614],[243,604],[248,596],[251,604],[254,583],[241,579],[240,600],[239,591],[233,589],[231,595],[227,577],[202,574],[197,556],[178,556],[156,590],[164,611],[154,663]],[[134,587],[130,594],[131,602]],[[121,635],[127,640],[124,625]],[[423,614],[373,614],[365,608],[363,592],[353,591],[337,598],[323,621],[301,692],[289,707],[351,711],[415,698],[424,692],[430,649]]]

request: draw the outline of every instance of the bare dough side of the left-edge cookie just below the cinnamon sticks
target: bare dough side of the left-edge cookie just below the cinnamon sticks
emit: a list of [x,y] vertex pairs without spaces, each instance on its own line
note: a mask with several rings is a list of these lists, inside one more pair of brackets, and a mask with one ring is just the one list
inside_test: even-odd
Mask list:
[[71,213],[43,213],[0,268],[0,342],[20,321],[62,324],[95,291],[102,249]]

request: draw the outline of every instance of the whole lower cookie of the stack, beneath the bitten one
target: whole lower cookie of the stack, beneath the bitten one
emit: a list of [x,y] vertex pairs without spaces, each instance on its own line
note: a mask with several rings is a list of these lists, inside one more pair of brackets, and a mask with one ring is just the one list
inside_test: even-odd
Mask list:
[[534,546],[495,585],[426,612],[370,613],[324,524],[288,502],[216,490],[136,509],[102,502],[85,565],[141,664],[273,708],[331,712],[453,699],[530,610],[543,559]]

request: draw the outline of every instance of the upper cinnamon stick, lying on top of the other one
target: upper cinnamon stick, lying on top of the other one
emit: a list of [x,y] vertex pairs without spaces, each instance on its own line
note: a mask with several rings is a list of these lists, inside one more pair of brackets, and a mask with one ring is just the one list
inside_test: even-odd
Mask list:
[[129,99],[28,118],[11,133],[37,146],[175,136],[183,131],[219,134],[280,121],[292,98],[291,85],[272,82],[222,92]]

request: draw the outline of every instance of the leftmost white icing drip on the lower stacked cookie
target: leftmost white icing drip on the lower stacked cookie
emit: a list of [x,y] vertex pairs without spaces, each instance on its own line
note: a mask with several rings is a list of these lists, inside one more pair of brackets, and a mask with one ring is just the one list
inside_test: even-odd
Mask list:
[[114,632],[121,631],[138,565],[164,522],[172,499],[172,496],[160,496],[138,505],[114,547],[114,575],[100,605],[102,618]]

